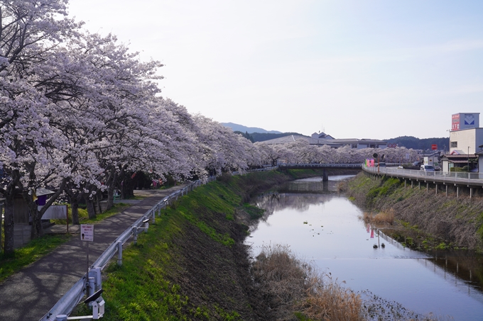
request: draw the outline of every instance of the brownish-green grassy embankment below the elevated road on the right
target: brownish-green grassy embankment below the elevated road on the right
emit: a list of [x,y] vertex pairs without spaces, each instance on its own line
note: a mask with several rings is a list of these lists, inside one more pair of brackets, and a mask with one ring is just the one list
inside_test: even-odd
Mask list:
[[[394,213],[396,221],[429,235],[425,246],[483,250],[483,198],[404,187],[398,179],[370,179],[361,173],[347,184],[347,195],[367,210]],[[438,240],[440,239],[440,240]]]

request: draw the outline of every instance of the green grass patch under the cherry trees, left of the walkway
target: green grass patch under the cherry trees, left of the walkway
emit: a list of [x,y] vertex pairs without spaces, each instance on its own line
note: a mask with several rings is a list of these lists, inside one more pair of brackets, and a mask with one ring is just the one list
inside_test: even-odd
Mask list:
[[71,235],[44,235],[28,242],[25,247],[15,249],[13,254],[0,254],[0,282],[20,271],[24,266],[37,261],[53,249],[70,240]]

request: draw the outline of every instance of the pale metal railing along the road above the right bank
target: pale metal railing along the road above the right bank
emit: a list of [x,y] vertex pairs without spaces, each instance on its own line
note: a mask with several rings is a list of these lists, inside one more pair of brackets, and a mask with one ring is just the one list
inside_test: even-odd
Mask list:
[[452,184],[483,186],[483,174],[461,171],[422,171],[417,169],[398,169],[394,167],[366,167],[364,171],[374,174],[388,174],[405,179],[426,179]]

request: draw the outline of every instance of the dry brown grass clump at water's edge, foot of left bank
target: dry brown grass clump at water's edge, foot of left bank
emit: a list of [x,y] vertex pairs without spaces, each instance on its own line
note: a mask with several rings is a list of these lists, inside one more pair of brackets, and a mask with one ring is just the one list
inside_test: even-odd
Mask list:
[[263,247],[252,271],[276,320],[296,320],[295,312],[310,320],[364,320],[359,295],[297,259],[288,246]]

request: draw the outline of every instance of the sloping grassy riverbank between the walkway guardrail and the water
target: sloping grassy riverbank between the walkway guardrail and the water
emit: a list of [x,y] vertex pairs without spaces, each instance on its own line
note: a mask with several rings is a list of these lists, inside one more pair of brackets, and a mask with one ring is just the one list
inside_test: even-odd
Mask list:
[[[316,320],[308,315],[326,313],[315,307],[323,288],[320,276],[306,278],[305,265],[293,258],[287,264],[297,273],[287,284],[300,286],[297,291],[292,286],[281,290],[288,269],[273,271],[270,266],[281,265],[259,264],[254,276],[249,248],[242,242],[248,226],[241,222],[263,214],[246,204],[250,196],[273,184],[308,176],[320,176],[320,171],[222,176],[180,198],[163,210],[148,233],[140,235],[137,245],[126,247],[122,266],[113,261],[104,270],[107,312],[103,320],[276,320],[280,315]],[[264,262],[268,263],[267,257],[290,256],[267,249]],[[266,283],[270,280],[271,286]],[[342,298],[342,314],[359,314],[357,295],[334,284],[327,291]],[[280,293],[286,294],[283,300],[278,298]],[[307,299],[300,300],[300,295]],[[79,313],[87,312],[82,309]]]

